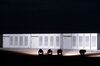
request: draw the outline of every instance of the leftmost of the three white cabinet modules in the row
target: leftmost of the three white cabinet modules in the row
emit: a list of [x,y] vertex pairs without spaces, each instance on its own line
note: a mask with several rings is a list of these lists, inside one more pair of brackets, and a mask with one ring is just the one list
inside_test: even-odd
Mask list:
[[30,48],[30,34],[3,34],[3,48]]

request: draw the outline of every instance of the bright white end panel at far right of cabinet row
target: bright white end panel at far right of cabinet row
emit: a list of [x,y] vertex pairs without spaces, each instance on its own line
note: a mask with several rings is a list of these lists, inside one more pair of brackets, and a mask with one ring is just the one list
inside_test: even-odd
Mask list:
[[97,33],[91,34],[91,50],[97,50]]

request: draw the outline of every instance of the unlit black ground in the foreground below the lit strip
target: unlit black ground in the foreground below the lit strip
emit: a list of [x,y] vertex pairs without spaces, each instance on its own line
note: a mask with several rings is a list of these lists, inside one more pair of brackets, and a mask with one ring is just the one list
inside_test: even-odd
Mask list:
[[[92,55],[92,54],[91,54]],[[95,53],[94,53],[95,55]],[[20,52],[12,52],[0,49],[0,59],[3,65],[39,65],[39,66],[54,66],[54,65],[96,65],[100,64],[100,57],[81,57],[80,55],[71,56],[38,56],[34,54],[26,54]]]

